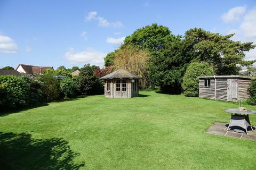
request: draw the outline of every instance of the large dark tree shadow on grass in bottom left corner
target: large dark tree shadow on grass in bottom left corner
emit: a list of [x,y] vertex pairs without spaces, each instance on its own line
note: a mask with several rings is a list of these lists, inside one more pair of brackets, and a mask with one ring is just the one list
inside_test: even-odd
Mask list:
[[77,156],[60,138],[0,132],[0,169],[79,169],[84,163],[75,163]]

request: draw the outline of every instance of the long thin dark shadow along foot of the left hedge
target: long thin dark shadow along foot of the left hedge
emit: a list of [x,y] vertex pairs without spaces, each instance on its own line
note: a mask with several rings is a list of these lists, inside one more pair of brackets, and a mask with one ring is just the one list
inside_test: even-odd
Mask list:
[[[78,99],[85,98],[85,97],[86,96],[77,96],[75,98],[67,98],[67,99],[62,99],[62,100],[54,100],[54,101],[51,101],[49,103],[61,103],[63,101],[73,101],[73,100],[78,100]],[[20,107],[20,108],[0,108],[0,117],[1,116],[6,116],[6,115],[9,115],[9,114],[13,114],[13,113],[18,113],[18,112],[21,112],[21,111],[27,111],[27,110],[29,110],[31,108],[48,106],[49,103],[35,104],[33,106],[23,106],[23,107]]]

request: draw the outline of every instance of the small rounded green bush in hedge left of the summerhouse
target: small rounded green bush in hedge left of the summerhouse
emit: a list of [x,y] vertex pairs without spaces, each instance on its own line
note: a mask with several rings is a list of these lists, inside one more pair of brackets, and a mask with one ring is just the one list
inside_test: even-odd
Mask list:
[[76,94],[77,84],[71,78],[62,79],[60,81],[60,91],[65,95],[65,98],[73,97]]

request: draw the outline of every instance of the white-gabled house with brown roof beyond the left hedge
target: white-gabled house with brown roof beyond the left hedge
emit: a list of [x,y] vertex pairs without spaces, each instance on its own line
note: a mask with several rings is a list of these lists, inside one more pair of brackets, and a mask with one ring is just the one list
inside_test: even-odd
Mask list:
[[19,64],[17,67],[17,71],[25,74],[42,74],[45,70],[52,69],[52,66],[35,66],[35,65],[26,65]]

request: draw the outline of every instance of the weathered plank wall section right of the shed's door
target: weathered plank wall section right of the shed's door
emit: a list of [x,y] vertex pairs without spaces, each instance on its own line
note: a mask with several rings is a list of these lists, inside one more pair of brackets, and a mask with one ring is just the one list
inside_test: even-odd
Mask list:
[[238,79],[238,99],[247,99],[250,97],[248,88],[251,84],[249,79]]

